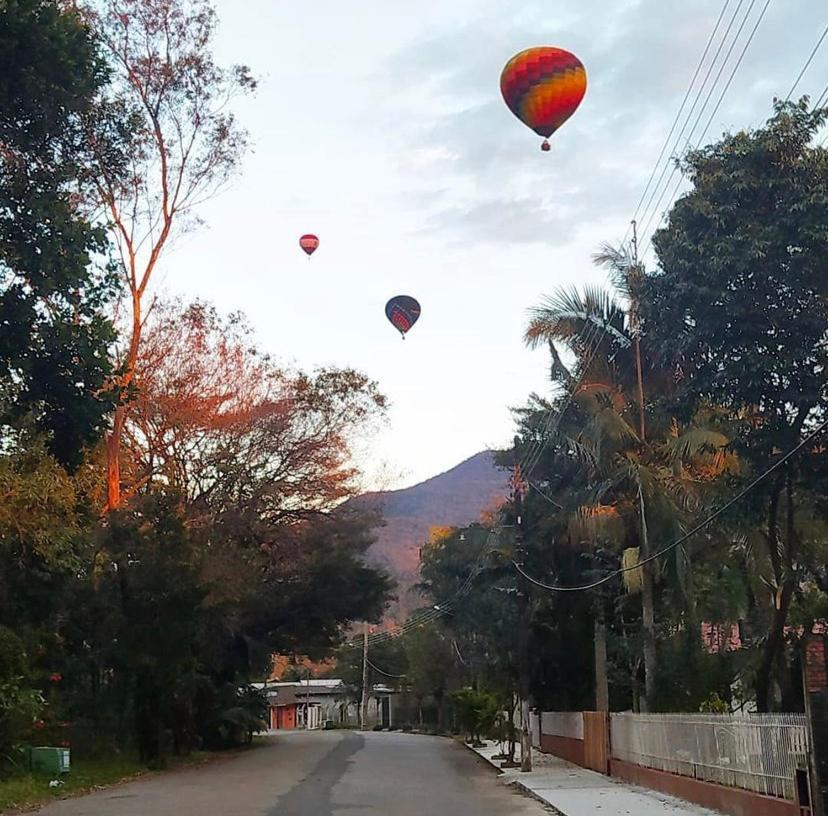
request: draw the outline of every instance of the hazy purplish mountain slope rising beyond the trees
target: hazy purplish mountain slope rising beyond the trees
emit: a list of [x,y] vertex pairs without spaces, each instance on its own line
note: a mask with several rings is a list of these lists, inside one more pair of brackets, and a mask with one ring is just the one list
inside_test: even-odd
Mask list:
[[508,493],[509,475],[495,466],[492,451],[482,451],[451,470],[413,487],[366,493],[355,504],[378,511],[385,525],[375,530],[368,560],[397,581],[394,617],[419,606],[411,587],[418,581],[420,547],[433,527],[459,527],[498,507]]

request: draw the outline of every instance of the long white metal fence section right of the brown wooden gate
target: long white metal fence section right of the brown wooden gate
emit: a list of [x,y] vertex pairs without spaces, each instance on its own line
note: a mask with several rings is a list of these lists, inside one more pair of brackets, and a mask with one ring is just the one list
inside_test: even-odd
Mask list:
[[613,714],[610,741],[624,762],[789,800],[808,766],[804,714]]

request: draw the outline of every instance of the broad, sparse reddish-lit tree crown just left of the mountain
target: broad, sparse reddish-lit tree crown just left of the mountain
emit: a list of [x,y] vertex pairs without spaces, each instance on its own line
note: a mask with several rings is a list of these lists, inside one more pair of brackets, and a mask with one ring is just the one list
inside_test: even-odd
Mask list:
[[240,316],[202,303],[156,304],[135,386],[123,457],[133,489],[172,486],[212,522],[234,508],[251,534],[354,495],[351,443],[386,404],[352,369],[278,366]]

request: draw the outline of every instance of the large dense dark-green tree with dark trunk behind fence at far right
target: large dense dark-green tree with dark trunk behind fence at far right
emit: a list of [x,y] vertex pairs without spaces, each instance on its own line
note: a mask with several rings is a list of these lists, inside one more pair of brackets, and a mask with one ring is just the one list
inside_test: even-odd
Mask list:
[[[706,400],[745,420],[740,447],[754,473],[828,409],[828,151],[812,146],[826,113],[779,102],[764,127],[690,153],[692,189],[653,241],[647,343],[675,374],[685,415]],[[819,455],[803,451],[754,492],[773,568],[756,675],[763,711],[803,566],[805,474]]]

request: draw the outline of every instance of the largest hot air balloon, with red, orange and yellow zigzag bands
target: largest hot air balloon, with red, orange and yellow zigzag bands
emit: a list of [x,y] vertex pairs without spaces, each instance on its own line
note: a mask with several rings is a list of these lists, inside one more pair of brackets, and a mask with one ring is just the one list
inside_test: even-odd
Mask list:
[[516,54],[500,75],[500,92],[509,110],[547,139],[581,104],[586,93],[583,63],[563,48],[540,46]]

